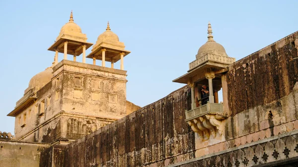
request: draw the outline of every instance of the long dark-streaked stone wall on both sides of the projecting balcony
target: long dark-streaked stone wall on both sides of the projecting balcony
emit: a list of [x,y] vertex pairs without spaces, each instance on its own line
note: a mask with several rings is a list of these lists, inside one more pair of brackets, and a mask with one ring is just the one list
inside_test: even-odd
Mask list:
[[[225,110],[230,116],[223,120],[224,141],[200,142],[191,131],[184,121],[185,110],[190,110],[190,94],[188,88],[183,87],[76,140],[65,149],[60,148],[63,155],[56,156],[56,162],[64,162],[65,167],[163,167],[171,164],[174,167],[190,159],[239,150],[239,165],[245,166],[243,159],[247,158],[249,166],[253,166],[256,165],[253,158],[260,161],[264,152],[268,160],[273,161],[274,149],[283,158],[280,160],[287,160],[285,150],[290,147],[291,156],[295,157],[297,135],[285,136],[294,131],[297,134],[298,130],[298,59],[293,59],[298,57],[296,46],[298,32],[228,67],[225,74],[228,99],[224,101],[229,104]],[[268,141],[272,143],[269,142],[270,149],[266,152]],[[226,156],[233,161],[225,160]],[[224,158],[214,157],[201,163],[230,166],[235,165],[235,158],[227,154]]]

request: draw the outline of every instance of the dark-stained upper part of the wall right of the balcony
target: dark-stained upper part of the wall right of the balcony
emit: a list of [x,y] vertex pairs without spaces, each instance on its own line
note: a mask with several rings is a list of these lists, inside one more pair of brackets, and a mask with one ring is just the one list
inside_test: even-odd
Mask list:
[[246,56],[228,67],[232,115],[269,104],[291,92],[298,82],[298,32]]

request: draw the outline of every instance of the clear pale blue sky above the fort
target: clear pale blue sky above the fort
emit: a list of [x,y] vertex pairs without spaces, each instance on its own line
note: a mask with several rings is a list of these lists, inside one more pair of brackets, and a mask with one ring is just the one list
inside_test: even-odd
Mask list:
[[52,64],[55,53],[47,49],[71,10],[91,43],[110,21],[132,52],[124,59],[127,100],[143,107],[184,86],[172,80],[207,41],[208,21],[215,41],[238,60],[297,31],[297,6],[296,0],[1,0],[0,131],[14,131],[6,114],[30,78]]

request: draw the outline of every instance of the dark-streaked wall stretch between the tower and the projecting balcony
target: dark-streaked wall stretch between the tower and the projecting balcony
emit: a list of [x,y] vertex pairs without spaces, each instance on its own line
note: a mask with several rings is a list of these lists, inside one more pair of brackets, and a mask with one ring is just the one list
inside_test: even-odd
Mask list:
[[55,158],[65,167],[163,166],[194,158],[185,92],[187,87],[76,140]]

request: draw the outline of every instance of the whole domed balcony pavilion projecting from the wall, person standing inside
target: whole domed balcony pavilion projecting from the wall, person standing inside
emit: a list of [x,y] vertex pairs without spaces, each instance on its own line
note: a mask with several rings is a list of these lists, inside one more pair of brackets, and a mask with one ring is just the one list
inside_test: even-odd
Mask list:
[[[185,112],[185,120],[198,133],[200,141],[210,137],[224,140],[222,120],[229,114],[224,110],[224,106],[227,107],[228,104],[226,101],[219,103],[218,91],[223,89],[223,98],[227,98],[224,73],[233,62],[235,58],[227,56],[224,47],[214,41],[209,22],[208,41],[200,47],[196,60],[189,63],[188,73],[173,80],[188,84],[191,88],[191,110]],[[203,85],[208,85],[208,92],[204,92],[208,97],[203,97]]]

